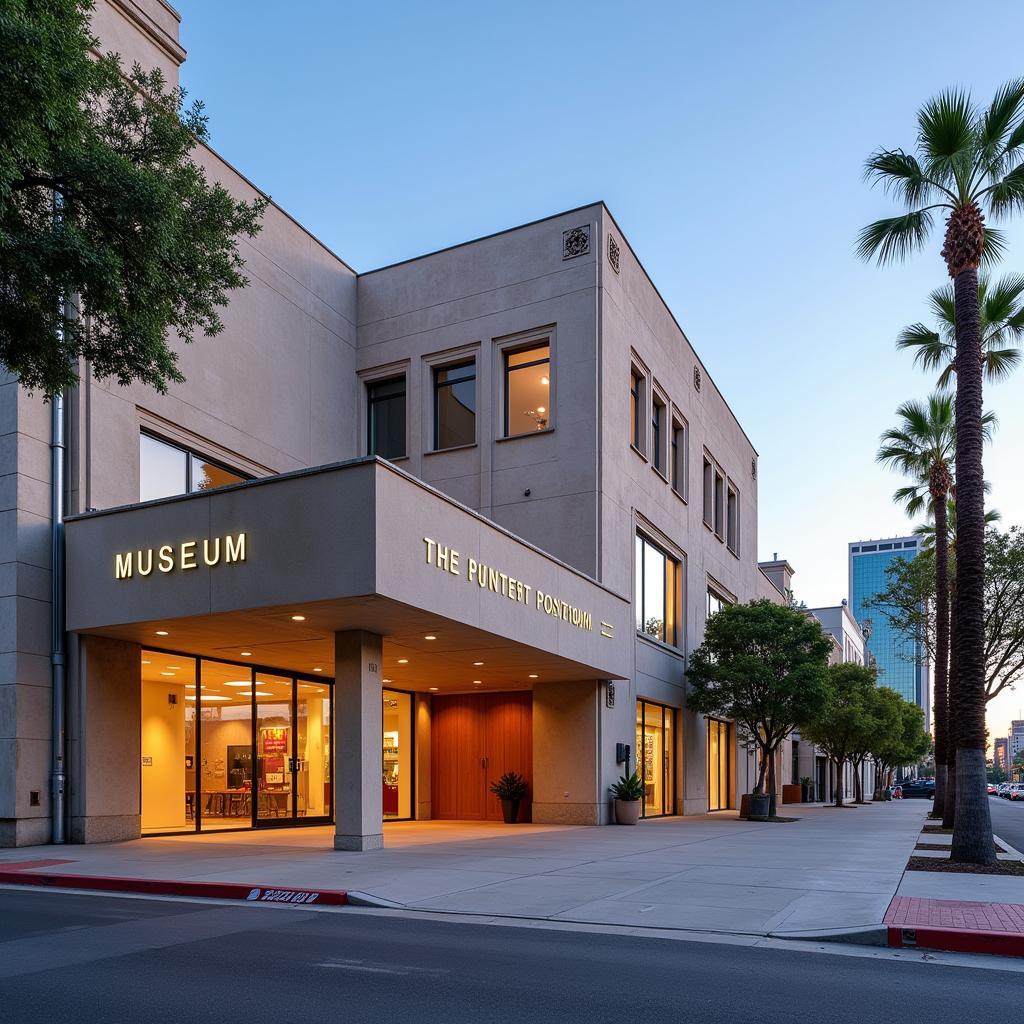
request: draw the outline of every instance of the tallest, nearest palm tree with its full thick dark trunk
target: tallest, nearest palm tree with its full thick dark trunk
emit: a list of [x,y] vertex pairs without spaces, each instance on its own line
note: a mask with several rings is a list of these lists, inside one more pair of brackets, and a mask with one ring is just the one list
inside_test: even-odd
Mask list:
[[956,338],[957,579],[953,599],[956,679],[950,714],[956,718],[956,822],[950,857],[995,862],[985,790],[985,492],[982,467],[982,348],[978,272],[1005,249],[985,227],[993,217],[1024,210],[1024,79],[1000,88],[987,108],[949,89],[918,112],[916,155],[879,150],[866,174],[904,207],[868,224],[858,252],[886,263],[922,249],[946,217],[942,257],[953,285]]

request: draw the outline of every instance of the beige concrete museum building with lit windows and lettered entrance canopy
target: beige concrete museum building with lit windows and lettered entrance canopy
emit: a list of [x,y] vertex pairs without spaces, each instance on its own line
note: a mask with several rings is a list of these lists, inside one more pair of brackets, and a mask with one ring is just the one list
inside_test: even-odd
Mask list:
[[[94,16],[172,82],[178,22]],[[241,247],[184,384],[83,364],[59,443],[0,387],[0,844],[330,823],[371,849],[500,819],[507,771],[521,820],[607,823],[634,768],[645,817],[735,807],[745,754],[684,673],[710,613],[780,599],[757,453],[607,208],[356,272],[270,204]]]

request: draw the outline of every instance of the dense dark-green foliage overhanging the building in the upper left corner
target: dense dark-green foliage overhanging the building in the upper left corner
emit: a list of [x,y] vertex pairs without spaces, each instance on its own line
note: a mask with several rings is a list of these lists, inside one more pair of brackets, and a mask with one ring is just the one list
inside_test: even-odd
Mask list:
[[99,54],[91,9],[0,9],[0,362],[44,396],[80,359],[122,385],[182,381],[168,334],[222,330],[266,202],[207,179],[202,103]]

